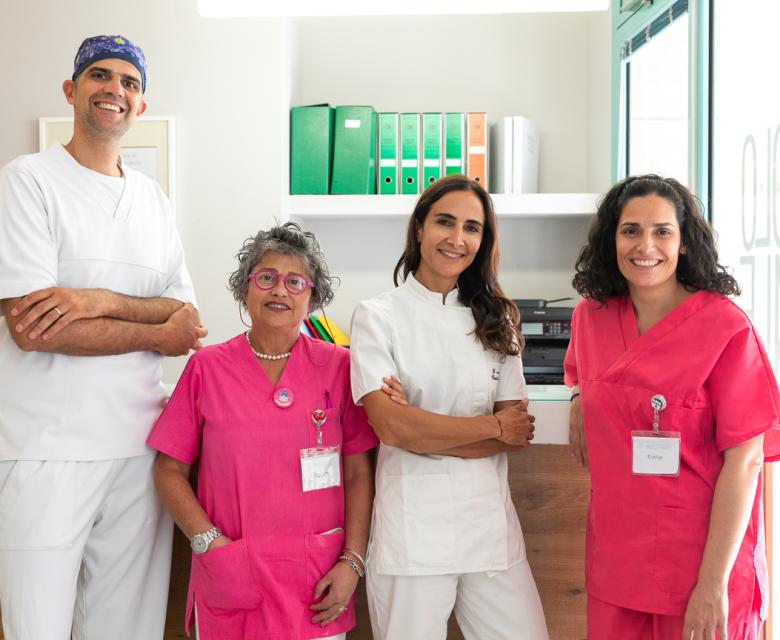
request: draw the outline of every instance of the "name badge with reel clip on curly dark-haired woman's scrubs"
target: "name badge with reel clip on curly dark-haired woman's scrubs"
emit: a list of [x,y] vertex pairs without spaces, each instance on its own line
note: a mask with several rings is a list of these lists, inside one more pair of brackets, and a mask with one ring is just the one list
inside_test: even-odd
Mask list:
[[666,409],[666,398],[650,398],[653,408],[653,430],[631,432],[631,471],[641,476],[680,475],[680,432],[662,431],[660,413]]

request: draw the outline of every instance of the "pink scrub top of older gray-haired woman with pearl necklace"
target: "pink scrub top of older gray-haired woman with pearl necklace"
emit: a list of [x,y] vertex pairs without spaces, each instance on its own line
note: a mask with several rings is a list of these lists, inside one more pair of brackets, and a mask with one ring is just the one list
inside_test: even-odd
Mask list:
[[[292,391],[289,407],[276,389]],[[185,625],[197,603],[201,640],[321,638],[355,624],[354,606],[326,627],[310,622],[314,586],[344,546],[343,469],[341,486],[302,491],[315,409],[327,413],[324,446],[349,456],[377,445],[352,402],[346,349],[301,335],[274,387],[241,334],[190,358],[149,435],[152,448],[198,461],[198,501],[234,540],[192,556]]]

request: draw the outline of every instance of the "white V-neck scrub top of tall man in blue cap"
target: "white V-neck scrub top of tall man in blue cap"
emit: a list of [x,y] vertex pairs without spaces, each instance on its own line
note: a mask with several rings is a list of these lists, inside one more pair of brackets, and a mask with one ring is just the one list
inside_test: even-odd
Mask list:
[[[0,299],[52,286],[194,302],[159,186],[80,165],[55,144],[0,171]],[[24,352],[0,310],[0,460],[106,460],[150,452],[165,390],[159,353]]]

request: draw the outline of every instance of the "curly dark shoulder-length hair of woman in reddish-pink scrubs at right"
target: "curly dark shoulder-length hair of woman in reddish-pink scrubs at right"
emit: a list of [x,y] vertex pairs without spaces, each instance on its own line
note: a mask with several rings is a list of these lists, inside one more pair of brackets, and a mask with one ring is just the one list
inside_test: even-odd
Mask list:
[[601,200],[588,232],[588,243],[580,251],[572,285],[580,295],[604,302],[628,291],[628,283],[617,265],[615,236],[623,207],[631,198],[656,195],[674,205],[686,252],[677,262],[677,281],[688,291],[716,291],[738,296],[737,281],[718,262],[715,234],[702,214],[699,200],[674,178],[655,174],[632,176],[617,183]]

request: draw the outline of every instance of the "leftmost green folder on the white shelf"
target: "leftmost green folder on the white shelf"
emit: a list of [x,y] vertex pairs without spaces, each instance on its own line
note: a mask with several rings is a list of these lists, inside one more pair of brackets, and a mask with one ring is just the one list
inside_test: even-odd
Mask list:
[[330,187],[334,109],[290,109],[290,193],[326,194]]

